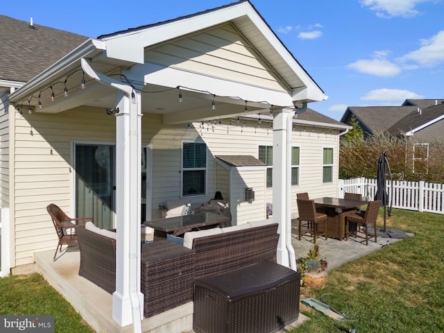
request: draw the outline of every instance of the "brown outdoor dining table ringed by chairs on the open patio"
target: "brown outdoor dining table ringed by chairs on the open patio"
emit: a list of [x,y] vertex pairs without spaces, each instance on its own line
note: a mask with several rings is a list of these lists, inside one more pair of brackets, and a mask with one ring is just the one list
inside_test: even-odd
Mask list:
[[316,210],[327,214],[327,237],[333,237],[340,241],[345,237],[345,216],[357,212],[359,207],[368,204],[368,201],[364,200],[332,198],[327,196],[313,200]]

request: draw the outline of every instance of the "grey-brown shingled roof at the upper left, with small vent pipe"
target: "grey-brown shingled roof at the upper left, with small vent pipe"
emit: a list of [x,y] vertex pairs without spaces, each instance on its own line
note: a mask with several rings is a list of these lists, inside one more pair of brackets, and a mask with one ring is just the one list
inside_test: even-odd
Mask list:
[[[26,83],[88,37],[0,15],[0,80]],[[1,85],[1,84],[0,84]]]

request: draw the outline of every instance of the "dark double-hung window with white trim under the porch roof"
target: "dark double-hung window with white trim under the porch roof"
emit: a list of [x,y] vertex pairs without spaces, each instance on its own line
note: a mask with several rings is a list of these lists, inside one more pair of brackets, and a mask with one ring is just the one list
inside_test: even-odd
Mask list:
[[182,142],[182,196],[204,195],[207,183],[207,145]]

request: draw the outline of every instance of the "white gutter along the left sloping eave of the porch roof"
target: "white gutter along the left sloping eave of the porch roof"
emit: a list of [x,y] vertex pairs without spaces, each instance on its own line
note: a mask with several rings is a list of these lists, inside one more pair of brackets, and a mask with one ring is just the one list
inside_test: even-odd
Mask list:
[[54,65],[48,69],[45,69],[42,71],[42,73],[38,74],[21,88],[10,94],[10,101],[16,102],[25,99],[41,87],[48,85],[47,81],[54,80],[54,77],[58,76],[58,74],[62,73],[63,71],[66,71],[69,67],[75,65],[76,62],[78,62],[78,65],[80,66],[80,59],[85,57],[88,58],[91,53],[97,50],[104,51],[105,43],[100,40],[90,38],[76,49],[68,53],[65,57],[58,60],[58,62],[56,62]]

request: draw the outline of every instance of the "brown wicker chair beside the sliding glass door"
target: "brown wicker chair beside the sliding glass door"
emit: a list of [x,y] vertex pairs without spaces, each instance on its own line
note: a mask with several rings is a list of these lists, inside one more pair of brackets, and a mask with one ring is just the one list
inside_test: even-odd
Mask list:
[[[63,245],[77,244],[76,228],[85,228],[87,221],[93,221],[92,217],[83,217],[80,219],[71,219],[65,212],[63,212],[58,205],[48,205],[46,207],[51,219],[53,220],[54,228],[56,228],[58,236],[58,246],[56,253],[54,253],[53,261],[56,261],[57,252],[62,251]],[[80,224],[81,223],[81,224]]]

